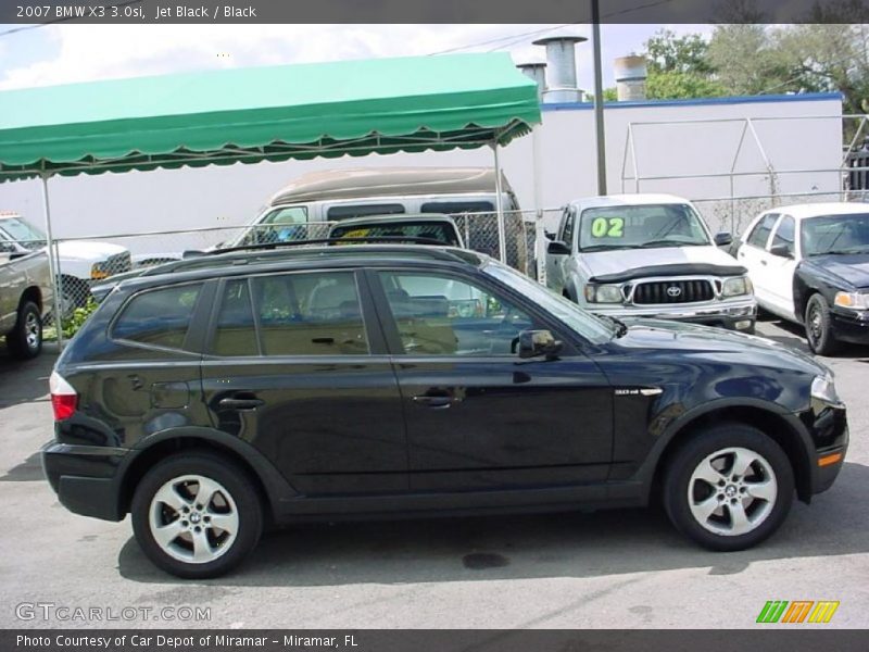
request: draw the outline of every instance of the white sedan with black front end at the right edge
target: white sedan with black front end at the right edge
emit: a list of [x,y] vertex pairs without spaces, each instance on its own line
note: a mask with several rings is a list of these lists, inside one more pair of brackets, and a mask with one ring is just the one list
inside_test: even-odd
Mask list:
[[869,343],[869,204],[765,211],[742,235],[736,259],[758,305],[803,324],[814,352],[829,355],[840,341]]

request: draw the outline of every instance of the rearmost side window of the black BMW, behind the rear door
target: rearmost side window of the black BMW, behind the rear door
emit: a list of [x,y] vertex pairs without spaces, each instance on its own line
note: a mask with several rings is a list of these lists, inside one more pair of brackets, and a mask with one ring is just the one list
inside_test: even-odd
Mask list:
[[135,294],[112,327],[112,338],[184,350],[202,284],[182,285]]

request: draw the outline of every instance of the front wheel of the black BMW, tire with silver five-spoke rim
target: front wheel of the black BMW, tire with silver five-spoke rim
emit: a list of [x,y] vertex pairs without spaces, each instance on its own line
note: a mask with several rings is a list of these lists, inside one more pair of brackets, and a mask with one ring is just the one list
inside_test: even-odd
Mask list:
[[[735,462],[736,455],[756,459],[743,476],[733,475],[732,465],[728,468],[727,463]],[[725,486],[695,476],[707,462],[716,479],[729,478]],[[752,492],[760,494],[764,487],[764,492],[771,487],[772,496],[752,498]],[[788,455],[764,432],[739,423],[698,430],[670,460],[664,481],[664,506],[672,524],[690,539],[716,551],[744,550],[765,540],[783,523],[793,498],[794,474]],[[716,509],[705,518],[695,516],[697,512],[705,515],[704,505]],[[740,522],[739,514],[746,519]]]

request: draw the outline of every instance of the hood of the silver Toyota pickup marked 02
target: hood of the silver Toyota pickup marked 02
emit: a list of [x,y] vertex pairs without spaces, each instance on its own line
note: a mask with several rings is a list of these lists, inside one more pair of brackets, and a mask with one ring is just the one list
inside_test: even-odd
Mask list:
[[[580,252],[590,278],[617,278],[632,272],[650,275],[744,274],[745,269],[730,254],[711,244],[704,247],[658,247],[654,249],[615,249]],[[654,271],[650,268],[655,268]],[[717,269],[720,268],[720,269]]]

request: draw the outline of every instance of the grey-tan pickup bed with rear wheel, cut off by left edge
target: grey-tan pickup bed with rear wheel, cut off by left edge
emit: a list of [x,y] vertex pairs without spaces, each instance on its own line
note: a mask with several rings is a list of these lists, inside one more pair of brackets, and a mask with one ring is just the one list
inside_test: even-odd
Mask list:
[[27,360],[42,350],[42,318],[52,299],[46,250],[21,253],[0,242],[0,337],[13,358]]

